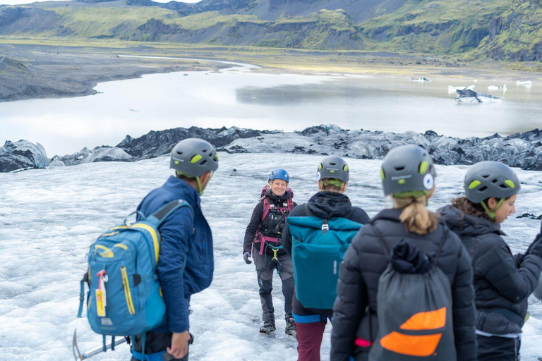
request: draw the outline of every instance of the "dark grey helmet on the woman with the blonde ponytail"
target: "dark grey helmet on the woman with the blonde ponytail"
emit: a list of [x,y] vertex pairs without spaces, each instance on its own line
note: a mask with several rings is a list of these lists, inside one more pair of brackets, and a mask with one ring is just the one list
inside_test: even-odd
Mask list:
[[435,185],[437,172],[426,149],[417,145],[402,145],[387,153],[380,177],[384,195],[419,197]]

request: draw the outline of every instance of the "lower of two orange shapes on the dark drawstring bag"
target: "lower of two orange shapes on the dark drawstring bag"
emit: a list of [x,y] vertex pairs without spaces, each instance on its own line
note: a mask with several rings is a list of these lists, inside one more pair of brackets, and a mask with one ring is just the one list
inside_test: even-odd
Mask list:
[[427,357],[437,349],[442,334],[426,336],[410,336],[392,332],[380,340],[380,345],[394,353],[402,355]]

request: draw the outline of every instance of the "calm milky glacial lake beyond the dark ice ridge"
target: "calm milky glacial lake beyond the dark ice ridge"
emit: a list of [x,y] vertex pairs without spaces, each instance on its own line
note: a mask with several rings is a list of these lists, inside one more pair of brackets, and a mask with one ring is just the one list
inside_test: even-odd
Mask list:
[[[239,68],[237,68],[239,69]],[[498,104],[453,101],[448,85],[476,85],[502,97]],[[342,128],[469,137],[507,135],[542,128],[542,86],[490,92],[504,82],[435,80],[383,76],[268,75],[236,71],[144,75],[104,82],[102,94],[67,99],[0,103],[0,142],[40,142],[47,154],[116,145],[129,134],[200,126],[302,130],[322,123]],[[132,109],[132,110],[131,110]]]

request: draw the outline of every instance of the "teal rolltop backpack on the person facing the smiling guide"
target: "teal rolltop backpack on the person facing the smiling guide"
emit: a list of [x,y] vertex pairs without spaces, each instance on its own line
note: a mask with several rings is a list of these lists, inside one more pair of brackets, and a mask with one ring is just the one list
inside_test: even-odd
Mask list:
[[308,204],[304,207],[310,216],[286,220],[293,242],[296,298],[304,307],[330,310],[337,297],[339,265],[363,224],[342,217],[322,219],[314,216]]

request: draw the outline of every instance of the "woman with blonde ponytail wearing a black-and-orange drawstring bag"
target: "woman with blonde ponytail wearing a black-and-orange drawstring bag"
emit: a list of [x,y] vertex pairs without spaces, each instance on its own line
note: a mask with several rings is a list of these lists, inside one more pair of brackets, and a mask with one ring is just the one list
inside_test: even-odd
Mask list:
[[[344,255],[331,360],[476,360],[469,255],[426,208],[433,160],[421,147],[397,147],[380,176],[393,208],[361,228]],[[399,286],[390,288],[393,282]]]

